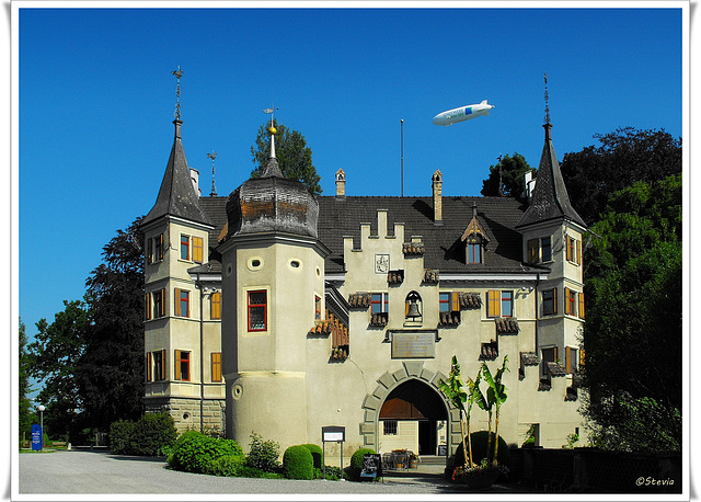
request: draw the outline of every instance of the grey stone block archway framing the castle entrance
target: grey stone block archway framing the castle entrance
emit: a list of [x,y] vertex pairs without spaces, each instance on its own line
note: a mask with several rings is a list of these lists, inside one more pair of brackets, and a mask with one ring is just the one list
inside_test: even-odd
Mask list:
[[390,396],[390,393],[399,386],[407,383],[411,379],[417,379],[426,384],[429,388],[436,391],[436,395],[445,404],[448,417],[448,454],[452,455],[456,447],[460,444],[460,412],[455,408],[438,388],[438,379],[447,377],[440,373],[434,373],[430,369],[424,367],[423,361],[410,361],[403,362],[402,366],[394,372],[386,372],[378,379],[378,386],[371,393],[366,395],[363,401],[363,410],[365,411],[364,421],[360,423],[360,434],[364,437],[364,446],[378,449],[378,429],[379,418],[382,403]]

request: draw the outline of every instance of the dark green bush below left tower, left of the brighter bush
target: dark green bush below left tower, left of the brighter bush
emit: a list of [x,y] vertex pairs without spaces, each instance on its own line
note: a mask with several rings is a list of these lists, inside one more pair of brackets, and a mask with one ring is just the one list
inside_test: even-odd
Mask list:
[[138,422],[118,420],[110,426],[110,448],[115,455],[164,455],[177,432],[173,418],[165,412],[147,413]]

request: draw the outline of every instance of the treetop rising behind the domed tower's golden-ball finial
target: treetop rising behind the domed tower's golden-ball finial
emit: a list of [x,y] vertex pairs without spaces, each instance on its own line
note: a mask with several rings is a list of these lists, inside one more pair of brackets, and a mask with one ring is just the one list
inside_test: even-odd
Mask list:
[[[275,157],[283,175],[291,180],[297,180],[307,185],[307,189],[313,195],[319,195],[322,190],[319,182],[321,176],[317,174],[311,160],[311,148],[307,146],[307,140],[297,130],[290,130],[283,124],[273,121],[274,127],[277,129],[275,135]],[[258,127],[258,134],[255,138],[255,145],[251,146],[251,156],[253,163],[256,166],[251,172],[251,178],[258,178],[267,164],[271,151],[271,136],[267,133],[268,125],[263,124]]]

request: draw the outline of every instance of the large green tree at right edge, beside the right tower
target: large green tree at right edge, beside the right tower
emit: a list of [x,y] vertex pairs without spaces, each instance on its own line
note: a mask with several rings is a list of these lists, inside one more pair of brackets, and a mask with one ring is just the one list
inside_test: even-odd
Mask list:
[[681,442],[681,175],[610,196],[586,251],[583,385],[595,443]]

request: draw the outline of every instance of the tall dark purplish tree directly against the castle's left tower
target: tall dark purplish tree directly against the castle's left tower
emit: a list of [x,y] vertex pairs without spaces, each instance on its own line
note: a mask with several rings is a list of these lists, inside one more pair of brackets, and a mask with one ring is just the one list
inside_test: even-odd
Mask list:
[[103,248],[85,285],[92,324],[77,381],[87,423],[103,431],[143,412],[143,236],[137,218]]

